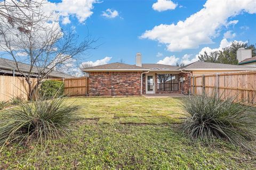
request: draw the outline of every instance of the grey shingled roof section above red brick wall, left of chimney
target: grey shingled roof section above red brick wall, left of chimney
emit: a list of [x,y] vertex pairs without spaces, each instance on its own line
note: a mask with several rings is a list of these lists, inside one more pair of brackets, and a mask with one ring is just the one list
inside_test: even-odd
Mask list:
[[110,63],[110,64],[103,64],[103,65],[97,65],[92,67],[87,67],[85,69],[82,69],[82,71],[143,71],[148,70],[143,67],[139,67],[136,65],[131,64],[124,64],[124,63]]

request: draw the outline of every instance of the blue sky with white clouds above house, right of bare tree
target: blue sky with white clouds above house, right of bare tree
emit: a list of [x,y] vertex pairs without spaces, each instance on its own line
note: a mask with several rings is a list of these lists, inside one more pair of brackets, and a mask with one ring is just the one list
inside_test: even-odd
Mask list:
[[81,62],[92,65],[121,58],[135,64],[137,52],[143,63],[188,64],[204,50],[218,50],[234,40],[256,43],[255,0],[46,2],[46,11],[61,13],[63,29],[75,30],[82,39],[88,28],[99,38],[99,48],[82,57]]

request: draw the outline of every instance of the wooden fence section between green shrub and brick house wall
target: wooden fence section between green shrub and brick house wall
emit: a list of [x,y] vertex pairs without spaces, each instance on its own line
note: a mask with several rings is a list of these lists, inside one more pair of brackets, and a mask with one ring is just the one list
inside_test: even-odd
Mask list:
[[68,79],[53,79],[63,81],[64,93],[68,96],[87,96],[88,95],[88,80],[87,77],[68,78]]

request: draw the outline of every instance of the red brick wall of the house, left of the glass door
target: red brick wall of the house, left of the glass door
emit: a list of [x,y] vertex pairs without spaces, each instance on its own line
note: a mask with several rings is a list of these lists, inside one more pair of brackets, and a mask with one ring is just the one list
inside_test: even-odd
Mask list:
[[89,96],[139,96],[141,72],[91,72]]

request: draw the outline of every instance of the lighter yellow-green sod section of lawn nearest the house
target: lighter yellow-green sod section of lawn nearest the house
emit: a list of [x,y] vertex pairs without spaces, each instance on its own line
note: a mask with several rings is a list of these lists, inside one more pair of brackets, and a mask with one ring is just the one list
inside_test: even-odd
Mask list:
[[81,115],[84,118],[98,119],[98,123],[180,123],[180,113],[183,113],[180,107],[180,99],[178,98],[125,97],[70,99],[70,102],[74,101],[82,107]]

